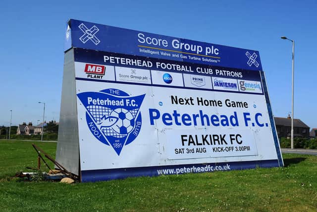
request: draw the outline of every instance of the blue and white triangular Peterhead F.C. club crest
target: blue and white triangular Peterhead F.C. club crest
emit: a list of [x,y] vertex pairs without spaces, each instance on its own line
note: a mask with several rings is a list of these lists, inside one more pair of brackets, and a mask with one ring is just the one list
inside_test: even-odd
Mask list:
[[140,133],[140,107],[145,94],[129,96],[118,89],[77,94],[85,106],[87,126],[92,135],[110,145],[120,155],[123,146],[134,141]]

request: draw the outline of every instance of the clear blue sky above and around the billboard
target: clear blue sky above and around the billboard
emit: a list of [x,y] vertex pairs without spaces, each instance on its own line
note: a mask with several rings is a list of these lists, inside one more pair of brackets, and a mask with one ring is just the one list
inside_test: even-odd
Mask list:
[[[317,1],[1,1],[0,125],[59,120],[65,23],[69,18],[260,52],[273,115],[291,111],[317,128]],[[41,122],[41,121],[40,121]]]

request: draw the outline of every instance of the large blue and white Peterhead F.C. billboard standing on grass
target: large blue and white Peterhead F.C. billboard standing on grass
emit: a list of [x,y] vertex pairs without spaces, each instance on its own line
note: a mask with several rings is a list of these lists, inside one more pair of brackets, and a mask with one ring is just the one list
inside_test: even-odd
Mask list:
[[82,182],[283,165],[259,52],[72,19],[67,27],[74,73],[64,72],[63,93],[76,90]]

